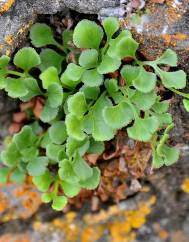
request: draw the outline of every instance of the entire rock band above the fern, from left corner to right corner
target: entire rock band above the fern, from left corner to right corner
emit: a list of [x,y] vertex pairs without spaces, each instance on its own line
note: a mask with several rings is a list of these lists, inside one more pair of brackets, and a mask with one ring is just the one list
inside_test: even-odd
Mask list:
[[[141,52],[154,59],[166,48],[174,49],[179,63],[189,73],[188,0],[1,0],[0,54],[11,54],[25,39],[40,14],[67,12],[118,16],[123,27],[132,29],[141,43]],[[135,11],[140,10],[140,11]]]

